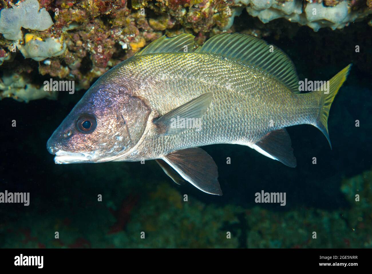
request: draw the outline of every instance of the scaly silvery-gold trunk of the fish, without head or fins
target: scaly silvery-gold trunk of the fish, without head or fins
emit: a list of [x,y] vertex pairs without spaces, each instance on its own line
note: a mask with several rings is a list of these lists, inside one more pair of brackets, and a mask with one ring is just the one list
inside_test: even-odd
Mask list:
[[[161,70],[155,69],[149,76],[146,73],[149,67],[161,67]],[[118,79],[122,77],[121,69],[117,69]],[[136,83],[145,83],[129,93],[146,98],[149,107],[156,110],[153,118],[202,94],[213,94],[200,131],[187,130],[170,136],[148,134],[141,149],[137,149],[138,158],[126,160],[157,159],[177,149],[211,144],[251,146],[272,130],[315,124],[319,112],[320,96],[295,94],[254,67],[214,54],[135,56],[126,64],[126,70],[133,72]]]

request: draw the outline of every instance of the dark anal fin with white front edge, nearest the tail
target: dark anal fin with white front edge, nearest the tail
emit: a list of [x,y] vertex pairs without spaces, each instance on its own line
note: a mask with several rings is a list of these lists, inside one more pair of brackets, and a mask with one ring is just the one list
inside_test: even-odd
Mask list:
[[284,128],[270,131],[252,148],[286,166],[296,167],[297,165],[296,157],[293,155],[291,137]]

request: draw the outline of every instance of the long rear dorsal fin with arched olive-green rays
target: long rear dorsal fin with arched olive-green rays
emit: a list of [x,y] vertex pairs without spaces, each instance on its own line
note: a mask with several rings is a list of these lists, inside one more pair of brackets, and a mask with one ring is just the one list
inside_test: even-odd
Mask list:
[[298,91],[298,76],[291,59],[282,50],[248,34],[218,34],[195,52],[218,54],[256,67],[278,79],[293,92]]

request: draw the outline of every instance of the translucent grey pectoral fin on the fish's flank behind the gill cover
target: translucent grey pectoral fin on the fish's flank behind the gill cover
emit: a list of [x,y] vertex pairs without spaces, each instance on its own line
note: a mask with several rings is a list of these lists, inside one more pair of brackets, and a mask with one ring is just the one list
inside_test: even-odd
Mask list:
[[158,133],[161,135],[175,135],[184,132],[187,127],[177,126],[177,120],[182,118],[201,118],[211,104],[212,98],[212,92],[202,94],[188,103],[169,111],[163,116],[160,116],[154,121],[154,124],[158,129]]

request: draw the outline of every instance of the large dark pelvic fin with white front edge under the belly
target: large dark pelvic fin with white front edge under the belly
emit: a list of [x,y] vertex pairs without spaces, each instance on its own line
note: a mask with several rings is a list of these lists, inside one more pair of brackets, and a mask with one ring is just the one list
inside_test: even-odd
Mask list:
[[216,163],[203,149],[177,150],[164,156],[163,160],[196,188],[209,194],[222,195]]

